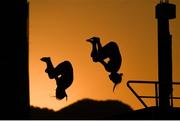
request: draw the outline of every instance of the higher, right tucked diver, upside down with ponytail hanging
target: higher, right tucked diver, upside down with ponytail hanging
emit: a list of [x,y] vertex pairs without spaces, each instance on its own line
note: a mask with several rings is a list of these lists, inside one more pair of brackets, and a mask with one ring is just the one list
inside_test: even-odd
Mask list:
[[[115,42],[109,42],[102,47],[99,37],[92,37],[87,42],[92,44],[91,57],[94,62],[100,62],[107,72],[110,72],[109,78],[115,84],[113,91],[117,84],[122,80],[123,73],[118,73],[121,67],[122,57],[119,47]],[[109,59],[108,62],[105,59]]]

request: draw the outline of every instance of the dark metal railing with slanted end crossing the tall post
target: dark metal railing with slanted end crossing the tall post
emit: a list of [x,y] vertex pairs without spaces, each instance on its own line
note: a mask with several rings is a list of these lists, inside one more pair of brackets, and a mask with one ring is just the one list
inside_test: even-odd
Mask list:
[[[154,84],[155,86],[155,96],[139,96],[135,90],[131,87],[130,84],[132,83],[139,83],[139,84]],[[155,98],[156,101],[156,106],[159,106],[159,95],[158,95],[158,84],[159,82],[156,81],[136,81],[136,80],[130,80],[127,82],[127,86],[128,88],[131,90],[131,92],[137,97],[137,99],[141,102],[141,104],[147,108],[148,106],[146,105],[146,103],[142,100],[142,98]],[[173,85],[180,85],[180,82],[173,82]],[[173,99],[180,99],[180,97],[173,97],[173,92],[172,95],[170,96],[171,99],[171,106],[173,107]]]

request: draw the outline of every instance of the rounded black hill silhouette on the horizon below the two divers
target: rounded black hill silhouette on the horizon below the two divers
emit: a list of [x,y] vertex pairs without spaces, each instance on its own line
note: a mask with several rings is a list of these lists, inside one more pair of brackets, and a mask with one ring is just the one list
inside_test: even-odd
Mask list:
[[69,105],[57,112],[31,108],[32,119],[113,119],[114,116],[132,112],[132,108],[120,101],[107,100],[96,101],[83,99]]

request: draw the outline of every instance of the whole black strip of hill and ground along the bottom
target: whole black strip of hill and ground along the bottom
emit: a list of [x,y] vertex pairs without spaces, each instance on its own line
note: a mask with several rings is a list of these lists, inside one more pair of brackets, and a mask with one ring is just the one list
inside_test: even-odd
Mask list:
[[160,112],[156,107],[133,110],[130,106],[119,101],[94,101],[84,99],[60,111],[31,107],[30,119],[111,119],[111,120],[154,120],[180,119],[180,108],[173,108],[169,112]]

